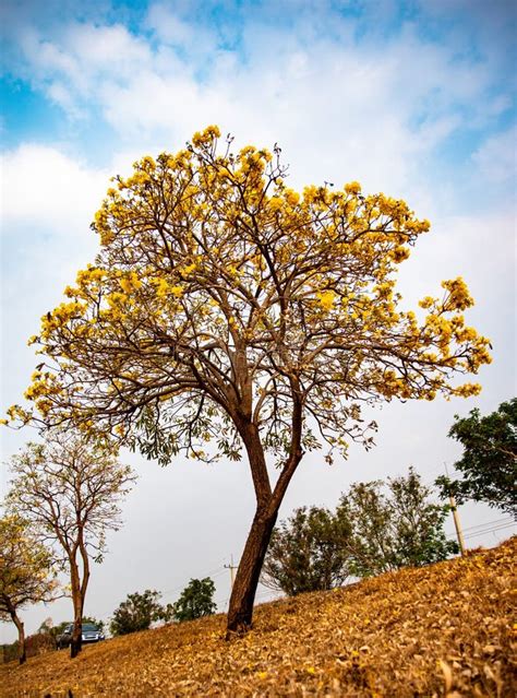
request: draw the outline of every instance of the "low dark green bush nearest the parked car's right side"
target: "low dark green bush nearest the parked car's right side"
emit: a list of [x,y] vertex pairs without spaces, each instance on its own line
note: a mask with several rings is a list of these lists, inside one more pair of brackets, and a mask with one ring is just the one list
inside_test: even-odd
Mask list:
[[169,620],[172,607],[168,604],[164,607],[159,602],[161,594],[158,591],[146,589],[143,594],[137,591],[128,594],[125,601],[115,611],[109,625],[112,635],[129,635],[147,630],[156,620]]

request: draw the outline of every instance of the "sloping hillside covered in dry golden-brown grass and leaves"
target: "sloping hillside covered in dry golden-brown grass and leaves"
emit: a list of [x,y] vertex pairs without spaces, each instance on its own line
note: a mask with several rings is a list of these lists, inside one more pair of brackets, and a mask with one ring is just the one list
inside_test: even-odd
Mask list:
[[0,669],[0,696],[517,695],[516,548],[514,537],[462,559],[264,604],[242,640],[224,640],[218,615],[107,640],[74,661],[55,652],[10,664]]

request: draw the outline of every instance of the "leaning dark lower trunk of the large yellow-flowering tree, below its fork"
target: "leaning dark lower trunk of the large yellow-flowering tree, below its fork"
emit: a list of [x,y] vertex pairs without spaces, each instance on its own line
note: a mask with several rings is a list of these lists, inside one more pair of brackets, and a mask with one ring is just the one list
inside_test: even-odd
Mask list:
[[227,639],[244,635],[251,628],[256,587],[277,513],[278,507],[273,513],[261,508],[255,513],[231,590]]

